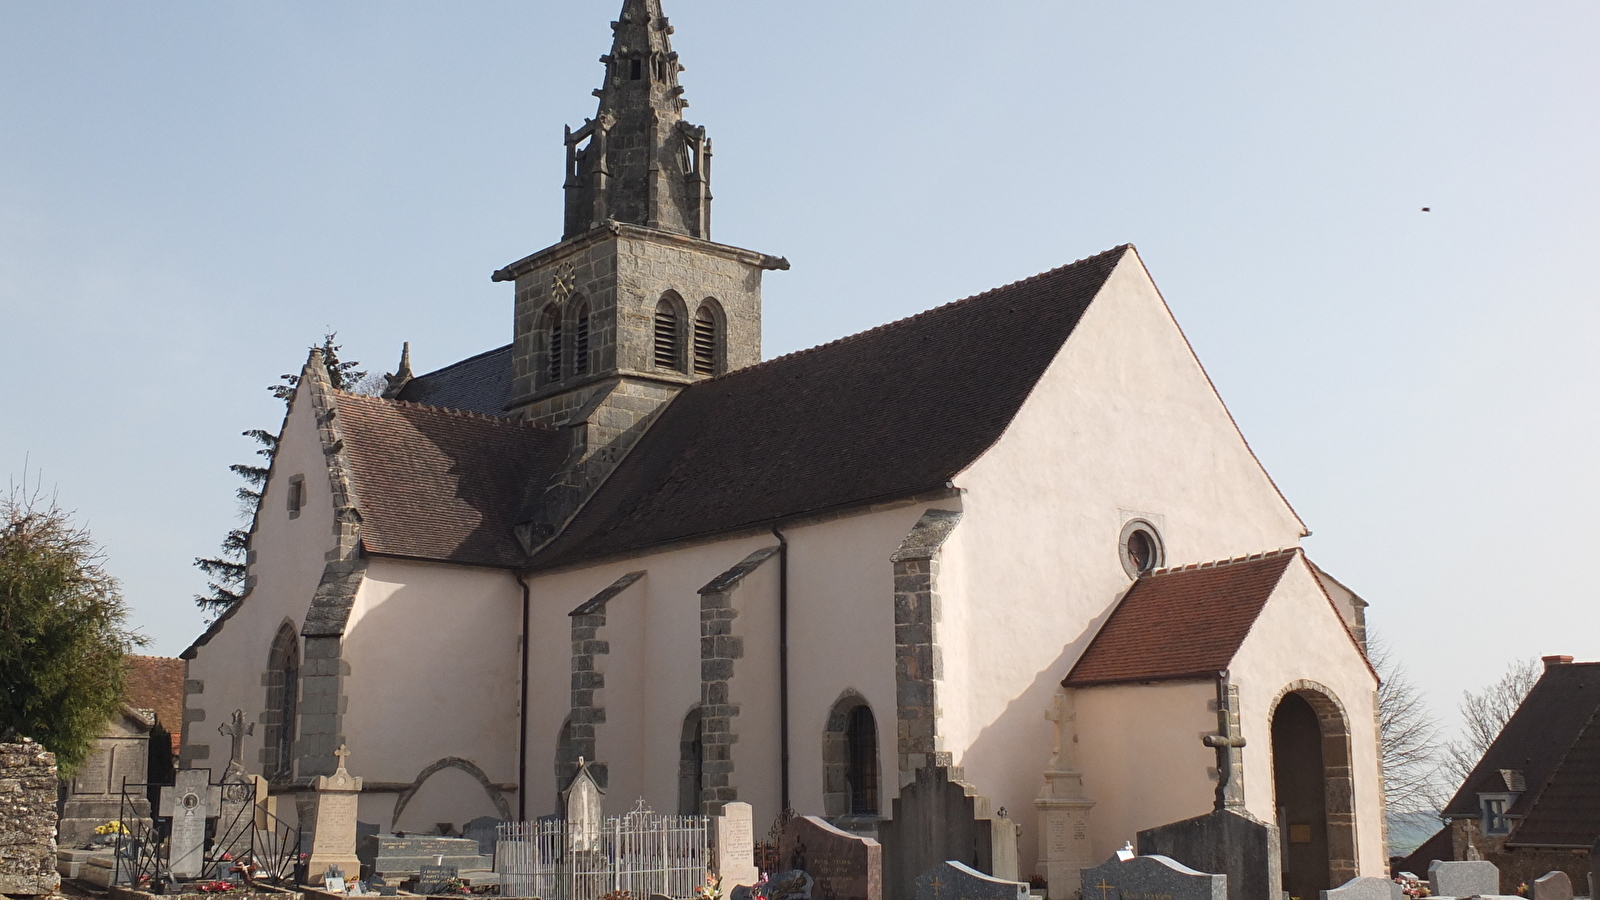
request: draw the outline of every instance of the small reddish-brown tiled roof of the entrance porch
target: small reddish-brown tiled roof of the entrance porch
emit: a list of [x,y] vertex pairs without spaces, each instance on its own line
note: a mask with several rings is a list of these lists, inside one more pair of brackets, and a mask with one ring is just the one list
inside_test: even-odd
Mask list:
[[1298,554],[1285,549],[1139,578],[1062,684],[1214,677],[1229,668]]

